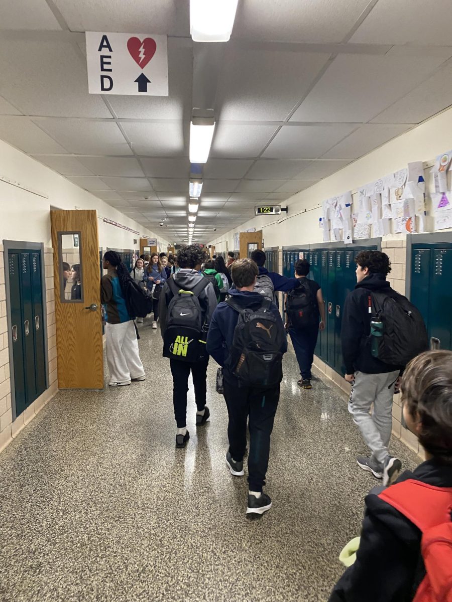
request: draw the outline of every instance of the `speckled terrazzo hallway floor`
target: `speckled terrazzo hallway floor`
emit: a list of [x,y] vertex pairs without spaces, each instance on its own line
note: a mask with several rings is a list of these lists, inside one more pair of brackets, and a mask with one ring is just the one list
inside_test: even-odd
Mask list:
[[191,439],[176,450],[171,374],[149,326],[145,382],[60,391],[0,455],[0,600],[324,602],[377,483],[355,464],[366,450],[347,404],[321,380],[300,391],[286,354],[266,486],[274,506],[250,520],[245,477],[225,466],[215,362],[212,421],[196,432],[190,391]]

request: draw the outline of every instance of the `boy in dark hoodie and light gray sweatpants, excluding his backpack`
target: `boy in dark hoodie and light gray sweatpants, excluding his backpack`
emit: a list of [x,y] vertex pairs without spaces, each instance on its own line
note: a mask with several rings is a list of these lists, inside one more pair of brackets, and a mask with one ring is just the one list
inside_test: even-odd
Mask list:
[[341,330],[345,380],[352,383],[348,410],[372,451],[370,458],[357,456],[359,467],[388,485],[397,479],[401,469],[400,460],[389,455],[388,445],[394,388],[403,367],[374,358],[369,335],[372,291],[385,291],[389,295],[394,292],[386,281],[391,262],[380,251],[362,251],[355,262],[357,285],[345,300]]

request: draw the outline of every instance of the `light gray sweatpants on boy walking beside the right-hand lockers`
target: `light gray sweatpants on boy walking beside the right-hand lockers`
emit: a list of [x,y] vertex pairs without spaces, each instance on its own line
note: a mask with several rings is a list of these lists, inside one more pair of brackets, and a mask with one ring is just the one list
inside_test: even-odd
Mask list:
[[[392,398],[399,371],[383,374],[355,372],[348,411],[372,450],[372,459],[383,464],[388,456],[392,430]],[[373,410],[371,414],[371,408]]]

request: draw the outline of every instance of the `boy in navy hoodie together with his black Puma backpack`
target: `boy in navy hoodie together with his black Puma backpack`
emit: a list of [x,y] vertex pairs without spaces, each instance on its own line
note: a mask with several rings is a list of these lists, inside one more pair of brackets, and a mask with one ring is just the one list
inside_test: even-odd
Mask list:
[[263,486],[287,339],[277,307],[253,291],[258,275],[254,261],[234,262],[231,275],[236,288],[213,314],[207,335],[207,353],[223,367],[229,417],[226,463],[233,476],[244,474],[248,420],[250,454],[246,513],[263,514],[272,505],[271,498],[263,493]]

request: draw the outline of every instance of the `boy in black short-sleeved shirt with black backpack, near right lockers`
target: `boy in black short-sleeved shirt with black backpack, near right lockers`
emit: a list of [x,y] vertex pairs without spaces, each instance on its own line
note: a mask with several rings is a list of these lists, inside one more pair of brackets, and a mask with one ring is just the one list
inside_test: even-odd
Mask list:
[[286,299],[286,328],[300,366],[301,378],[298,380],[298,385],[303,389],[312,389],[311,369],[314,349],[319,330],[325,328],[325,303],[322,289],[317,282],[307,278],[310,268],[306,259],[297,262],[295,278],[300,286],[290,291]]

